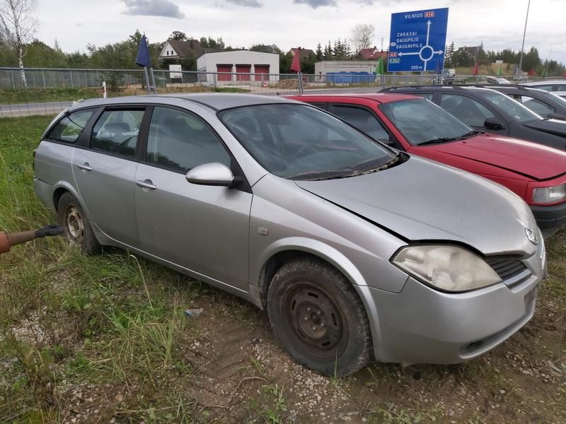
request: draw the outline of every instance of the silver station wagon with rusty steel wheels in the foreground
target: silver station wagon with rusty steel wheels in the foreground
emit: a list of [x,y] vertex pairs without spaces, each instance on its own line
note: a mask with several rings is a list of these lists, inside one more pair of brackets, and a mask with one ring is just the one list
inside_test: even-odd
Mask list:
[[72,245],[241,296],[325,375],[475,358],[531,319],[545,276],[518,196],[281,98],[78,102],[43,134],[34,184]]

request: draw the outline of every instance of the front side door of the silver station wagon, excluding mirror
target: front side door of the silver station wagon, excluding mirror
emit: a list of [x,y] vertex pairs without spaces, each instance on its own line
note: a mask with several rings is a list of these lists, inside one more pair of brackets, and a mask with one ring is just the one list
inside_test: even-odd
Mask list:
[[241,174],[223,141],[194,112],[155,106],[135,208],[142,249],[248,290],[250,189],[191,184],[187,171],[218,162]]

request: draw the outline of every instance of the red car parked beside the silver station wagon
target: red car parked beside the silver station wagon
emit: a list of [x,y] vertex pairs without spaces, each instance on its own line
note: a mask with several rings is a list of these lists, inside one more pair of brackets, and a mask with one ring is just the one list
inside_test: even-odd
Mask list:
[[481,175],[526,201],[548,237],[566,223],[566,152],[475,131],[414,95],[289,96],[335,114],[400,151]]

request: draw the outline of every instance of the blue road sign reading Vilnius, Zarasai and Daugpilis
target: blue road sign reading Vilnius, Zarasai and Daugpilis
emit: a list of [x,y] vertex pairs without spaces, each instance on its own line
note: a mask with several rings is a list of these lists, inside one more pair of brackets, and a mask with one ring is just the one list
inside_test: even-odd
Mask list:
[[444,68],[448,8],[392,13],[388,72]]

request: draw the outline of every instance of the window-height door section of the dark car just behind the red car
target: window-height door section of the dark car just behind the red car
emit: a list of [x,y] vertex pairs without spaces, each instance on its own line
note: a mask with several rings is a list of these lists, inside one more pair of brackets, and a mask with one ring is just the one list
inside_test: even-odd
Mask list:
[[[497,116],[490,107],[483,105],[483,103],[467,95],[441,93],[439,105],[442,109],[446,110],[446,112],[454,115],[454,117],[460,119],[461,122],[471,126],[473,129],[502,135],[509,134],[509,127],[504,123],[502,117]],[[486,119],[497,119],[502,124],[502,128],[487,129],[485,127]]]

